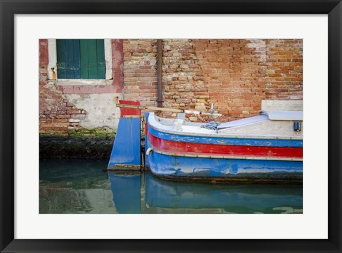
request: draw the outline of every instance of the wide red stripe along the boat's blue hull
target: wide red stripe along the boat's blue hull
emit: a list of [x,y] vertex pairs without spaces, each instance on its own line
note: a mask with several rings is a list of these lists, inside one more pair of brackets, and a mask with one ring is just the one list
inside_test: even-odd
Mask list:
[[197,155],[241,155],[269,158],[303,158],[303,148],[266,147],[249,145],[217,145],[203,143],[183,143],[164,140],[148,133],[150,144],[157,150]]

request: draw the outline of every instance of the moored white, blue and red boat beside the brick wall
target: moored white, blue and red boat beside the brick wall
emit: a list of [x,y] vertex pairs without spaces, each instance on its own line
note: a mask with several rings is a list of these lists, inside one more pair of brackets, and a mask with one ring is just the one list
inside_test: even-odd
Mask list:
[[147,119],[150,170],[170,180],[302,182],[303,113],[261,110],[221,124]]

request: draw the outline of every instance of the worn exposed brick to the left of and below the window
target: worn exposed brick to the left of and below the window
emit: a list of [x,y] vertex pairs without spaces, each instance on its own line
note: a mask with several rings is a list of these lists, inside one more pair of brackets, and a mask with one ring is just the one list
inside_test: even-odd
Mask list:
[[68,102],[54,81],[48,81],[48,41],[39,40],[39,130],[65,132],[80,128],[86,110]]

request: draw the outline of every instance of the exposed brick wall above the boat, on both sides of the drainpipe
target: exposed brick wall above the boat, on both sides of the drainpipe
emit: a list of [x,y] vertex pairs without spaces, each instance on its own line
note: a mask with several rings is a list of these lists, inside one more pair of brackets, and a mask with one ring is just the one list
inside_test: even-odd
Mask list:
[[[301,40],[167,39],[162,41],[163,106],[234,120],[257,115],[261,100],[303,99]],[[124,97],[157,105],[156,40],[124,41]],[[175,116],[164,113],[165,116]],[[209,120],[194,118],[190,120]]]

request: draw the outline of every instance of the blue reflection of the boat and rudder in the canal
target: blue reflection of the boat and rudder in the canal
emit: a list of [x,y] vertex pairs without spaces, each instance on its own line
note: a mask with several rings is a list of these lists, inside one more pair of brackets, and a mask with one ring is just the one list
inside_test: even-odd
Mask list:
[[108,172],[119,213],[302,213],[302,185],[215,185]]

